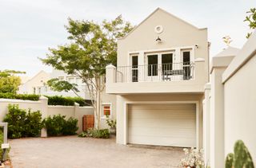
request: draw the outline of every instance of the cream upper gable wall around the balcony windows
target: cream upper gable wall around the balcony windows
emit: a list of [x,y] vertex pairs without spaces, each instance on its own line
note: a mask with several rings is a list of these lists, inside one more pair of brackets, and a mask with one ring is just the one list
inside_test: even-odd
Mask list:
[[[162,25],[163,32],[158,34],[154,32],[157,25]],[[162,39],[162,43],[156,43],[157,37]],[[194,46],[198,45],[198,48]],[[197,83],[205,84],[208,81],[208,41],[207,29],[198,29],[186,21],[168,14],[166,11],[158,9],[153,14],[142,21],[127,37],[118,41],[118,66],[127,66],[129,64],[130,52],[142,52],[150,50],[161,51],[162,49],[194,48],[194,59],[203,58],[204,64],[198,64],[195,67],[195,79]],[[179,53],[175,53],[175,60],[179,59]],[[144,53],[139,54],[138,64],[145,60]],[[177,60],[178,61],[178,60]],[[182,62],[182,61],[178,61]]]

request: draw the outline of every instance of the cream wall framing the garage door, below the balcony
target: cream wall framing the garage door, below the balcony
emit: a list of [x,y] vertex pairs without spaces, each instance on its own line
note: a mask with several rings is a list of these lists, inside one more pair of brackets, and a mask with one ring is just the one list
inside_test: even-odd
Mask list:
[[126,102],[139,102],[139,101],[198,101],[198,112],[199,112],[199,147],[202,147],[202,94],[140,94],[140,95],[126,95],[117,96],[117,143],[124,144],[124,133],[125,133],[125,115],[124,115],[124,104]]

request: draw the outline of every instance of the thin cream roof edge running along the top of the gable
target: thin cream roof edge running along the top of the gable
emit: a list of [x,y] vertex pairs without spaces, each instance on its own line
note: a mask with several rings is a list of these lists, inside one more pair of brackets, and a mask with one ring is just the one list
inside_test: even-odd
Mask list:
[[196,27],[196,26],[190,24],[189,22],[184,21],[184,20],[182,20],[181,18],[178,18],[178,17],[175,16],[174,14],[170,14],[170,13],[167,12],[166,10],[162,10],[162,8],[159,8],[159,7],[158,7],[156,10],[154,10],[154,12],[152,12],[148,17],[146,17],[142,22],[140,22],[138,25],[136,25],[136,26],[134,27],[134,29],[132,29],[129,33],[127,33],[125,37],[121,37],[121,38],[119,38],[118,40],[124,39],[124,38],[126,38],[127,36],[129,36],[131,33],[134,32],[135,29],[137,29],[140,25],[142,25],[142,23],[144,23],[146,20],[148,20],[152,15],[154,15],[154,14],[157,13],[158,11],[162,11],[162,12],[164,12],[164,13],[166,13],[166,14],[169,14],[171,17],[177,18],[178,20],[180,20],[180,21],[186,23],[186,25],[190,25],[190,26],[193,27],[194,29],[207,29],[207,28],[198,28],[198,27]]

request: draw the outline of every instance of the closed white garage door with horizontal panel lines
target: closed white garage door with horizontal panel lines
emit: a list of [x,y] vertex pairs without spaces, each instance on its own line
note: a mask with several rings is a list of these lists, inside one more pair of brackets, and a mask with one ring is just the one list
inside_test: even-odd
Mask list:
[[196,147],[195,104],[130,104],[128,143]]

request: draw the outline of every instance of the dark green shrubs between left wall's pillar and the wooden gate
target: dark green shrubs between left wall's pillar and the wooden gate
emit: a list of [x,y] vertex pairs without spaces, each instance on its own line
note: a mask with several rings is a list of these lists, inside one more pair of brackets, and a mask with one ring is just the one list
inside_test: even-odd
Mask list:
[[65,118],[65,115],[53,115],[44,119],[42,123],[46,127],[47,135],[75,135],[78,131],[78,119],[70,117],[66,120]]

